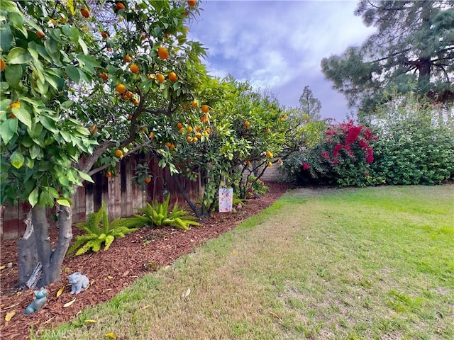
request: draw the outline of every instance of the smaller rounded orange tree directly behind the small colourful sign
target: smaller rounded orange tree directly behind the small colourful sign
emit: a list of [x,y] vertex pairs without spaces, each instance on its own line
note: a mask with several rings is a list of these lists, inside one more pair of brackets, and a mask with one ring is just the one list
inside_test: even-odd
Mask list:
[[[258,174],[258,169],[260,177],[269,163],[277,162],[286,118],[276,101],[231,77],[204,78],[194,101],[184,109],[198,118],[174,122],[179,133],[170,145],[172,159],[181,176],[204,188],[197,206],[179,186],[196,215],[204,217],[216,208],[220,186],[234,186],[239,196],[245,196],[247,181],[240,179]],[[180,114],[187,117],[184,111]]]

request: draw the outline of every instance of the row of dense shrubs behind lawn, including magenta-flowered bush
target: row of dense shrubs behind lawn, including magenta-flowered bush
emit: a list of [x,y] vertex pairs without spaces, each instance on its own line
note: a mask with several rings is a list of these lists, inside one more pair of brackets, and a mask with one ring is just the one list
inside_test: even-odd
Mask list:
[[397,91],[361,124],[325,122],[323,137],[284,162],[299,185],[437,184],[454,176],[452,113],[425,96]]

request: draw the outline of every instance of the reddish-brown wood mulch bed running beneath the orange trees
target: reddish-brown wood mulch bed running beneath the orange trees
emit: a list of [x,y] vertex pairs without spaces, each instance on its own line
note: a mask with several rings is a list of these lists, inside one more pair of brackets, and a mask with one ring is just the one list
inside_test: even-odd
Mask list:
[[[287,191],[287,183],[266,183],[270,191],[260,198],[249,200],[237,212],[215,212],[204,220],[201,227],[189,231],[172,228],[141,228],[136,232],[116,239],[108,251],[82,256],[67,256],[62,266],[62,280],[48,285],[48,302],[35,314],[24,315],[23,311],[33,301],[33,290],[18,292],[14,286],[18,280],[16,240],[1,241],[1,264],[13,263],[11,268],[0,271],[0,339],[29,339],[30,329],[50,328],[69,321],[85,307],[111,300],[120,290],[148,273],[189,254],[195,246],[233,229],[246,218],[272,205]],[[73,229],[74,235],[78,232]],[[50,237],[55,240],[57,228],[52,228]],[[78,295],[70,295],[67,276],[79,271],[90,280],[89,288]],[[65,287],[62,295],[57,291]],[[76,300],[69,307],[65,303]],[[15,312],[6,322],[7,313]]]

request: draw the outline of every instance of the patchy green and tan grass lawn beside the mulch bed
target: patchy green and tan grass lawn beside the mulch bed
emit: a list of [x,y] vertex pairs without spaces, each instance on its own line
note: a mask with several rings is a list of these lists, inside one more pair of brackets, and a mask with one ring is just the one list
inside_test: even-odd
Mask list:
[[110,302],[38,334],[454,339],[453,198],[453,186],[293,191]]

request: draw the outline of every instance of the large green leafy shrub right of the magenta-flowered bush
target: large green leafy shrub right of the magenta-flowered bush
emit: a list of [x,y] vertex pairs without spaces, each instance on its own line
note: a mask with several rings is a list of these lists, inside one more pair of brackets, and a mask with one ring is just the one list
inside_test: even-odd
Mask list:
[[449,109],[414,94],[394,96],[380,106],[372,125],[374,176],[392,185],[433,185],[454,174],[454,130]]

